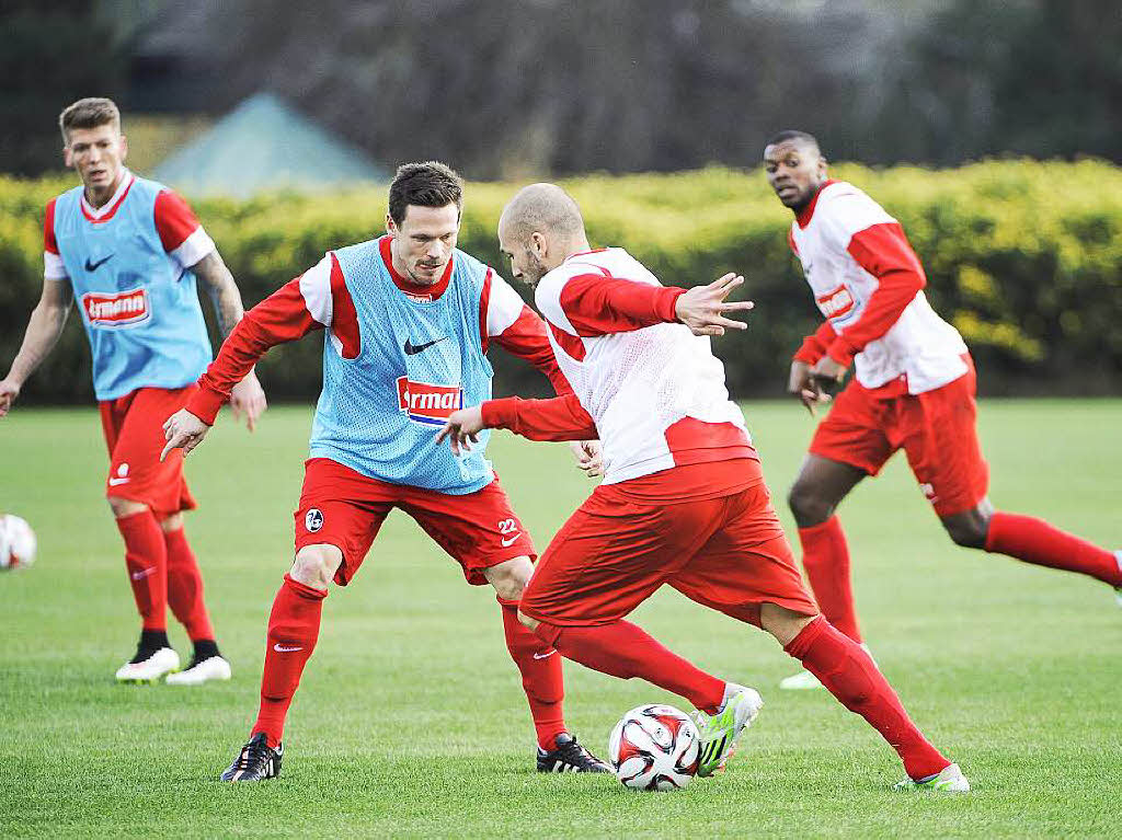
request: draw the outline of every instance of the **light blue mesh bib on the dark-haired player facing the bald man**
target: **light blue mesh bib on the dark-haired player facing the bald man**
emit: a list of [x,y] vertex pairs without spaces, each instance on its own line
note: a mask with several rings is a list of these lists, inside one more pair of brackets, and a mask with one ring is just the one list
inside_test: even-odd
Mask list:
[[445,493],[486,487],[494,479],[484,458],[489,433],[460,458],[435,436],[453,410],[490,399],[494,371],[479,336],[487,266],[453,251],[448,288],[424,301],[394,285],[378,240],[334,255],[358,314],[360,350],[343,359],[324,336],[312,458]]

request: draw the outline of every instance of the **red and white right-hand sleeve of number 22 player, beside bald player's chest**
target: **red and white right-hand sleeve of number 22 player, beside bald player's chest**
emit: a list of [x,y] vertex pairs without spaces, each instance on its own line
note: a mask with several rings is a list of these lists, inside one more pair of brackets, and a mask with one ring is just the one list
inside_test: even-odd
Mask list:
[[572,387],[558,367],[553,348],[545,335],[545,323],[523,303],[518,293],[488,270],[479,302],[479,326],[484,352],[494,341],[512,356],[525,359],[549,378],[557,394],[571,394]]

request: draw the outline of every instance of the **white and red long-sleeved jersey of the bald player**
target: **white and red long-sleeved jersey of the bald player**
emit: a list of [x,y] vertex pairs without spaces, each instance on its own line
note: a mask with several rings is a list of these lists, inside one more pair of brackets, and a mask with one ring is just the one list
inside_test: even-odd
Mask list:
[[622,248],[569,257],[542,278],[535,302],[573,395],[493,400],[485,423],[536,440],[598,436],[608,484],[757,459],[709,339],[674,314],[683,292],[663,287]]

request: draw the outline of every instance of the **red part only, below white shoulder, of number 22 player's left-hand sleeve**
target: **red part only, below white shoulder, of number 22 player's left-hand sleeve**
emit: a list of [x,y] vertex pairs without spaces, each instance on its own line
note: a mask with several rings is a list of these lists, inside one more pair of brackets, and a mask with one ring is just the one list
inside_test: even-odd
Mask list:
[[186,405],[187,410],[203,423],[214,424],[230,390],[269,348],[323,329],[307,308],[300,280],[300,277],[289,280],[249,310],[222,342],[218,357],[199,379],[199,390]]

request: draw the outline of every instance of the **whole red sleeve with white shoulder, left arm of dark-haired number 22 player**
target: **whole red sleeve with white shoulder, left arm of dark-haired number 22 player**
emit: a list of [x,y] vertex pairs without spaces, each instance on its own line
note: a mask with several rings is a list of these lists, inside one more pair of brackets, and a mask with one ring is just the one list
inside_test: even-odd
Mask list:
[[199,379],[199,390],[188,400],[187,410],[213,425],[230,390],[269,348],[324,327],[331,329],[332,344],[340,354],[347,358],[358,354],[355,304],[333,253],[325,255],[245,314]]

